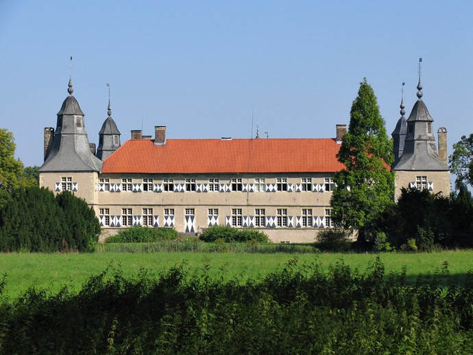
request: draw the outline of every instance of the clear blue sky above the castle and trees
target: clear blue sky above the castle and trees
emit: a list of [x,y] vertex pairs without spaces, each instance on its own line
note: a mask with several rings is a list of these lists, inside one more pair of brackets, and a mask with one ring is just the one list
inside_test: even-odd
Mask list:
[[[107,117],[167,138],[335,137],[363,77],[390,134],[417,100],[473,133],[473,1],[0,0],[0,127],[16,157],[43,163],[73,56],[74,96],[91,142]],[[253,112],[253,113],[252,113]],[[253,115],[253,126],[252,126]]]

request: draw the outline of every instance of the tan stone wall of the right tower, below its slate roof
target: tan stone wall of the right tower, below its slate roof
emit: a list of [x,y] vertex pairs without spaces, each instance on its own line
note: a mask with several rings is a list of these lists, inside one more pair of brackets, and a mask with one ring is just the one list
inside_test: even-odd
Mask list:
[[450,195],[450,172],[448,171],[396,171],[395,200],[401,195],[402,187],[409,187],[417,176],[427,176],[427,181],[433,182],[433,194],[441,192],[444,196]]

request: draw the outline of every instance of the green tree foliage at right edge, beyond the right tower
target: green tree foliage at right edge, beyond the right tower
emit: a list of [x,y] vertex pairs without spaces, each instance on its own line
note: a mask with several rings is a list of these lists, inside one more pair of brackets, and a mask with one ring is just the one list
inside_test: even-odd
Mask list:
[[453,153],[449,158],[450,171],[457,175],[455,187],[468,183],[473,186],[473,133],[469,137],[462,136],[453,145]]

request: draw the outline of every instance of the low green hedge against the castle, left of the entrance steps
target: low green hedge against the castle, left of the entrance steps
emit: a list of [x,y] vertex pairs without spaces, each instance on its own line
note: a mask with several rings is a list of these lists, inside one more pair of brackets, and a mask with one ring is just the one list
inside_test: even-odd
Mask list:
[[130,227],[120,229],[115,236],[108,237],[106,243],[149,243],[160,240],[173,240],[179,234],[171,228]]

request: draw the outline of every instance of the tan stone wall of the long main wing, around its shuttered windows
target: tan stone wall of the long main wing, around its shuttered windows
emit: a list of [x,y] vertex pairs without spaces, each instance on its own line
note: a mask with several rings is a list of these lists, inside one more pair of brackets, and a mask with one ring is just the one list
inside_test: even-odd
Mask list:
[[[274,242],[313,242],[318,229],[296,228],[296,217],[301,216],[302,208],[311,208],[313,216],[325,216],[325,209],[330,207],[331,192],[295,192],[296,184],[302,178],[311,178],[313,184],[324,184],[327,174],[200,174],[173,175],[173,183],[185,184],[186,178],[194,178],[197,184],[208,183],[209,178],[219,179],[219,183],[231,183],[232,178],[241,178],[242,183],[253,184],[255,178],[264,178],[265,184],[276,184],[277,178],[287,178],[288,184],[293,184],[293,192],[98,192],[98,204],[95,205],[97,216],[99,208],[109,208],[110,216],[121,216],[122,208],[132,208],[134,216],[141,216],[142,209],[152,208],[153,215],[160,216],[160,226],[163,225],[165,208],[175,210],[175,229],[184,232],[184,211],[186,208],[195,209],[195,230],[208,227],[208,209],[219,209],[219,225],[224,225],[226,216],[231,216],[232,209],[242,209],[243,216],[254,216],[254,209],[265,209],[266,216],[276,216],[276,209],[287,209],[287,216],[293,216],[292,228],[276,227],[263,228]],[[162,183],[163,176],[140,174],[102,174],[99,178],[109,179],[110,184],[121,183],[121,179],[132,179],[132,183],[143,183],[143,177],[153,179],[153,183]],[[106,229],[106,228],[105,228]],[[109,233],[116,230],[110,229]]]

